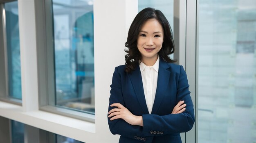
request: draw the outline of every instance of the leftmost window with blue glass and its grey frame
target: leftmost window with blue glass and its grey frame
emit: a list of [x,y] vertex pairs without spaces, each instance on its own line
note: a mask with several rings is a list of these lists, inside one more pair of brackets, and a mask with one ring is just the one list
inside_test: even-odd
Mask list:
[[20,38],[18,2],[1,4],[1,88],[2,98],[21,102]]

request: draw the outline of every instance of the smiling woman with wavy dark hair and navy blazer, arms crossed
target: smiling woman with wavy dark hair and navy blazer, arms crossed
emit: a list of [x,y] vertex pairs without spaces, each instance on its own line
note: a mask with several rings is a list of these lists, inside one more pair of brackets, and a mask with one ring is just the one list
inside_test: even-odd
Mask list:
[[115,68],[108,124],[119,143],[181,143],[180,132],[195,117],[182,66],[169,58],[173,35],[159,10],[143,9],[133,20],[125,46],[126,64]]

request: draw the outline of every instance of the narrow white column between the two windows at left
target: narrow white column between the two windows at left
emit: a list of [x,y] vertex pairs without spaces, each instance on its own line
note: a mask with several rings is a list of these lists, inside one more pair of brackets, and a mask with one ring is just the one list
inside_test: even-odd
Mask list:
[[18,0],[23,111],[38,110],[34,0]]

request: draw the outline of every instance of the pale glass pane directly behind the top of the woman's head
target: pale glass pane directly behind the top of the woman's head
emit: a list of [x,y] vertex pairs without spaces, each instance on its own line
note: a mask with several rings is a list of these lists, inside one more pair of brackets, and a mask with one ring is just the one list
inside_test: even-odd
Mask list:
[[[138,12],[146,7],[162,11],[173,30],[173,0],[138,0]],[[173,54],[170,58],[173,59]]]

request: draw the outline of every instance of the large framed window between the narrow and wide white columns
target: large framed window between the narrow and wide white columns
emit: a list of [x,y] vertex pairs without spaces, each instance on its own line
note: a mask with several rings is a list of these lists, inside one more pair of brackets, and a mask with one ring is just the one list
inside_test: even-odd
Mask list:
[[79,119],[85,117],[81,113],[88,113],[94,118],[93,1],[47,0],[45,15],[47,67],[38,71],[47,70],[47,82],[41,84],[47,85],[47,92],[40,95],[47,97],[40,97],[41,109]]

